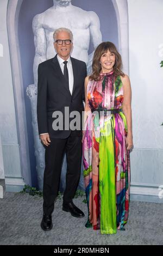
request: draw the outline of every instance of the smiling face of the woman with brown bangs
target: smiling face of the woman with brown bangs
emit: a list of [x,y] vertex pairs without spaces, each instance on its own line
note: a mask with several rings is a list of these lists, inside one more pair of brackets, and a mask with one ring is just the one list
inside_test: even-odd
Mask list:
[[113,70],[115,64],[115,54],[111,53],[109,50],[102,54],[100,59],[102,73],[108,73]]

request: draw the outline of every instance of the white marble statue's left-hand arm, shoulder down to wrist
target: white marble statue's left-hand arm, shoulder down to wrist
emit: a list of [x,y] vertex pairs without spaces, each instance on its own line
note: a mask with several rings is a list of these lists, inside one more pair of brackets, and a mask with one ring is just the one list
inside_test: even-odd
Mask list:
[[34,33],[35,57],[33,64],[34,83],[37,86],[37,69],[41,62],[46,60],[46,34],[45,29],[42,27],[42,17],[40,14],[36,15],[32,23]]

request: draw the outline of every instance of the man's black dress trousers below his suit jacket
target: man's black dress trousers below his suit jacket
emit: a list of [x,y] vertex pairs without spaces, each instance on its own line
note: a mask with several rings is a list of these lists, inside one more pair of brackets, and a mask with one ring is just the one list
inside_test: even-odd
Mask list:
[[[45,146],[46,147],[46,146]],[[45,172],[43,176],[43,213],[52,214],[54,200],[58,195],[62,159],[66,153],[67,173],[64,202],[70,203],[76,192],[82,161],[82,137],[71,131],[68,138],[51,138],[45,150]]]

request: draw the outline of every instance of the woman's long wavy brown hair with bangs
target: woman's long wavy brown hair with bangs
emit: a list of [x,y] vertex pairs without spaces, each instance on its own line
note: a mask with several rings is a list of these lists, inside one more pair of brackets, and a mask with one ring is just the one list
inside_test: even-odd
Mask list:
[[115,54],[115,64],[113,66],[114,74],[115,76],[123,76],[124,73],[122,71],[122,58],[121,54],[118,53],[116,46],[112,42],[102,42],[99,44],[95,50],[95,54],[93,56],[93,62],[92,62],[92,74],[90,75],[90,80],[98,81],[100,79],[99,74],[101,73],[101,64],[100,59],[104,53],[107,51],[110,51],[111,53]]

